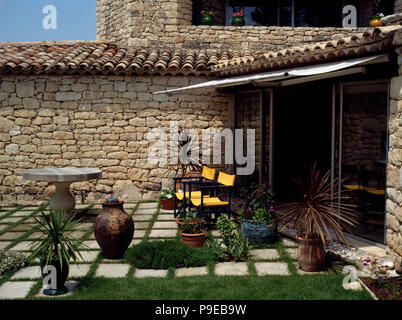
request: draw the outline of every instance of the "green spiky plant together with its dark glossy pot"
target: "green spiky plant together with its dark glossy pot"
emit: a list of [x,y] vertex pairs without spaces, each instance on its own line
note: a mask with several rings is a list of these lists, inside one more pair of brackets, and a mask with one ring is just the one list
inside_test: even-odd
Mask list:
[[[32,264],[39,259],[42,277],[50,275],[50,287],[45,288],[46,295],[61,295],[67,293],[65,282],[69,273],[70,260],[77,262],[82,256],[78,250],[81,241],[73,236],[78,231],[78,224],[82,220],[74,215],[66,218],[63,211],[45,214],[40,211],[41,217],[35,217],[33,230],[40,236],[31,243],[31,255],[28,262]],[[50,273],[50,274],[49,274]]]

